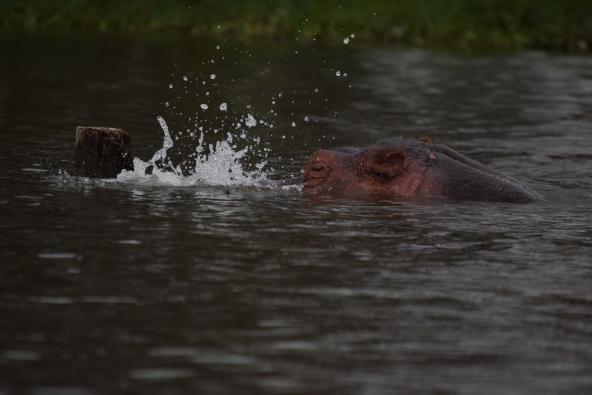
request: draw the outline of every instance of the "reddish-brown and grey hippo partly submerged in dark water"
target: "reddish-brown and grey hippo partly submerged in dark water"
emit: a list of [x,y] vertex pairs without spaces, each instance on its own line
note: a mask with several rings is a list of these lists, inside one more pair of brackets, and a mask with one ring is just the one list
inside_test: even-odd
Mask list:
[[304,167],[310,197],[528,203],[534,192],[513,178],[431,139],[388,138],[364,148],[314,152]]

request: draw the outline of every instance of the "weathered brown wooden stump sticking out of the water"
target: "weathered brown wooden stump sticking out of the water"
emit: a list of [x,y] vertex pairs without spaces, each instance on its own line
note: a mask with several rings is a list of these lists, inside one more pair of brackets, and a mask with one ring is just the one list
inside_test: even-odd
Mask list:
[[132,170],[131,138],[122,129],[78,126],[74,147],[74,175],[115,178]]

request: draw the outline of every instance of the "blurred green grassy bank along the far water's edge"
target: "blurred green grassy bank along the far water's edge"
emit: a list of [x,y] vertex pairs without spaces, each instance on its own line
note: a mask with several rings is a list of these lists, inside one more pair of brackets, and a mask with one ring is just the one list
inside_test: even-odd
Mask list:
[[3,0],[7,32],[176,31],[473,50],[592,50],[591,0]]

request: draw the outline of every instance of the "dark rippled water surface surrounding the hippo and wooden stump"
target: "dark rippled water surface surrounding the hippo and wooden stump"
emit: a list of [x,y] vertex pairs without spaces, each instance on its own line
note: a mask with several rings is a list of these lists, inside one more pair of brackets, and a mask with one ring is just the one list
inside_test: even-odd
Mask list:
[[[275,120],[250,131],[272,179],[429,135],[545,200],[63,174],[79,124],[147,159],[210,73],[207,100]],[[592,393],[592,58],[4,38],[0,75],[0,394]]]

